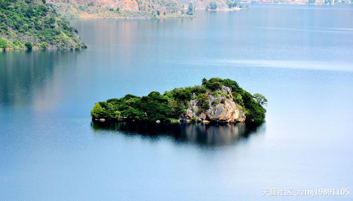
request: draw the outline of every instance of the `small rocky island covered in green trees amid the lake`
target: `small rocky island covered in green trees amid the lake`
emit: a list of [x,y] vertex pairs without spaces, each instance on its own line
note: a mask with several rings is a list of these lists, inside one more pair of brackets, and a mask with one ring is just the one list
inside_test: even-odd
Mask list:
[[230,79],[211,78],[202,85],[175,88],[164,94],[153,91],[138,97],[97,102],[91,110],[93,122],[261,122],[267,99],[250,94]]

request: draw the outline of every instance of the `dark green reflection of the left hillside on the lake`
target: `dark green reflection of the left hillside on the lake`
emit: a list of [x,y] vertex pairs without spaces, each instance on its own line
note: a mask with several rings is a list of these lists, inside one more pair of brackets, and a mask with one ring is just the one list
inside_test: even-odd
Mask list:
[[35,105],[38,97],[57,88],[58,74],[66,67],[71,68],[79,53],[55,50],[0,53],[1,105]]

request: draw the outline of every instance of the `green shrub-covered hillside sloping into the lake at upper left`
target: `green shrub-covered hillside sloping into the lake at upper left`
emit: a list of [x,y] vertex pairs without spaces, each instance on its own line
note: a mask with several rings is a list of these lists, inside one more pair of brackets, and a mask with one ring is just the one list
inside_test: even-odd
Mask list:
[[82,49],[78,32],[45,0],[0,0],[0,48]]

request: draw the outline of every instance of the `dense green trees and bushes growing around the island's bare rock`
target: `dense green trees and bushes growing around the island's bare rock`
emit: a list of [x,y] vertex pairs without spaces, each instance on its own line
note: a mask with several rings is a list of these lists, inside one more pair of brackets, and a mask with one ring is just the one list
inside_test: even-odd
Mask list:
[[[185,113],[188,103],[192,99],[197,99],[202,110],[209,109],[207,93],[215,93],[222,86],[231,88],[233,99],[245,111],[247,120],[257,122],[263,120],[266,113],[266,110],[262,107],[264,96],[258,94],[258,99],[255,100],[253,95],[243,90],[237,82],[220,78],[203,79],[201,86],[175,88],[166,91],[164,94],[154,91],[143,97],[129,94],[120,99],[97,102],[94,104],[91,116],[93,119],[104,118],[107,120],[130,119],[170,122],[174,119],[175,121]],[[214,101],[211,104],[220,103],[223,104],[224,101]]]

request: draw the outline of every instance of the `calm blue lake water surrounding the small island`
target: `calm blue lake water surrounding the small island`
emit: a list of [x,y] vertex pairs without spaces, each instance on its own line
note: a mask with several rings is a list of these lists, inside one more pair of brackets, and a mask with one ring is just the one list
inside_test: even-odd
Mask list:
[[[87,50],[0,53],[0,200],[352,200],[262,191],[353,190],[353,4],[195,15],[73,19]],[[97,101],[203,77],[265,95],[266,121],[91,122]]]

